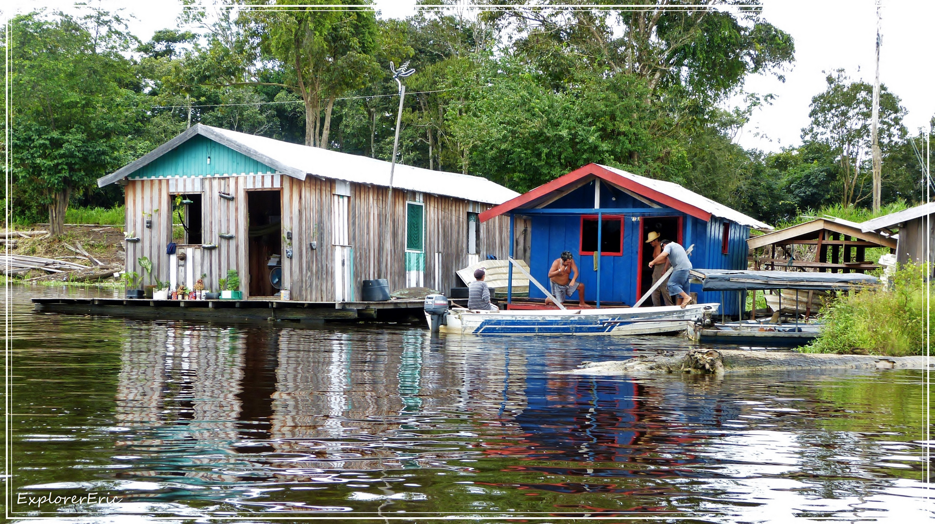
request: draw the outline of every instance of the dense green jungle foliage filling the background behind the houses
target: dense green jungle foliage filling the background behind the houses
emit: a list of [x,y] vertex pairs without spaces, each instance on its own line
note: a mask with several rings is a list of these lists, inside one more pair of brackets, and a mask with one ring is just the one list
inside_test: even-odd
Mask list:
[[[388,160],[398,104],[388,65],[405,61],[416,69],[405,164],[523,192],[598,162],[770,223],[869,207],[866,83],[833,72],[800,146],[746,151],[733,138],[771,97],[727,101],[750,75],[782,77],[792,38],[744,8],[750,0],[638,3],[647,8],[426,0],[409,19],[381,20],[366,1],[232,0],[191,6],[148,42],[99,8],[14,17],[0,43],[11,51],[17,220],[119,204],[119,186],[94,180],[196,123]],[[925,189],[922,133],[901,124],[897,95],[884,88],[881,101],[884,202],[913,204]]]

